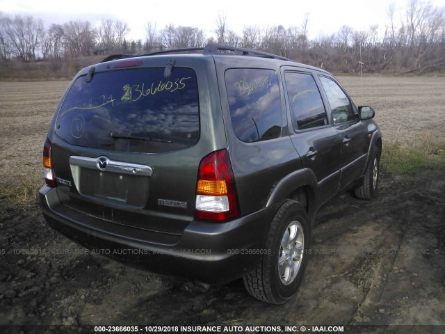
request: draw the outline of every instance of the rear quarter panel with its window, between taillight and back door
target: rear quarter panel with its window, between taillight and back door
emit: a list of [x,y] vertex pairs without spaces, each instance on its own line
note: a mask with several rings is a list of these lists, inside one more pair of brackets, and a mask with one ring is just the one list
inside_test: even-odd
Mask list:
[[241,214],[249,214],[264,207],[277,182],[301,164],[287,133],[279,72],[254,57],[238,60],[245,67],[230,67],[227,58],[218,58],[227,142]]

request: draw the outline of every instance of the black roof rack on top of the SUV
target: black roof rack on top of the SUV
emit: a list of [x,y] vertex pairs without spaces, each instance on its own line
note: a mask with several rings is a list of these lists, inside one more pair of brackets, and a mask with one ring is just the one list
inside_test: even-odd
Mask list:
[[137,55],[113,54],[111,56],[104,58],[104,60],[101,61],[101,63],[105,63],[106,61],[114,61],[115,59],[133,58],[140,56],[156,56],[159,54],[175,54],[177,52],[186,52],[186,51],[202,51],[202,54],[222,54],[222,53],[227,54],[227,52],[220,52],[220,51],[232,51],[232,52],[241,52],[242,56],[256,56],[256,57],[264,57],[271,59],[280,59],[282,61],[292,61],[289,58],[277,56],[276,54],[270,54],[264,51],[245,49],[243,47],[229,47],[227,45],[208,44],[205,47],[185,47],[182,49],[168,49],[168,50],[150,52],[148,54],[137,54]]

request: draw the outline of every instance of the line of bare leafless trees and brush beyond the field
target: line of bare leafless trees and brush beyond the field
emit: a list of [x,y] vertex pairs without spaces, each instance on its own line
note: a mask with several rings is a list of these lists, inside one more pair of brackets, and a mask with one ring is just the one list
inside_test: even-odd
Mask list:
[[162,49],[202,47],[218,43],[261,49],[333,72],[445,72],[445,8],[409,0],[405,13],[387,8],[385,33],[378,26],[339,31],[309,39],[309,15],[298,26],[245,26],[241,35],[229,29],[227,17],[218,15],[209,36],[203,29],[169,24],[158,29],[145,24],[145,40],[130,40],[129,26],[104,20],[51,24],[44,29],[32,16],[0,15],[0,53],[3,61],[38,61],[92,54],[141,54]]

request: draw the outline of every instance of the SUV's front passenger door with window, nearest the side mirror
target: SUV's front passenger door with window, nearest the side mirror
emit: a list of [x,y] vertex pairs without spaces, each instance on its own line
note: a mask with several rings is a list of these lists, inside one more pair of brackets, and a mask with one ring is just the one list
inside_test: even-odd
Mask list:
[[343,188],[362,175],[366,164],[369,139],[353,102],[341,86],[330,77],[320,76],[332,113],[332,122],[341,139],[341,177]]

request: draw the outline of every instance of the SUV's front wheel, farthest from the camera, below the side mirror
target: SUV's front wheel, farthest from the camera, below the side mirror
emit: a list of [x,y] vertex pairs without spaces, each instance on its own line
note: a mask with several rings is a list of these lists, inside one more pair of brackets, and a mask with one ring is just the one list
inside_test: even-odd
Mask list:
[[362,200],[371,200],[378,193],[380,179],[380,149],[373,145],[369,155],[368,166],[364,172],[362,184],[355,188],[355,196]]

